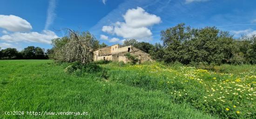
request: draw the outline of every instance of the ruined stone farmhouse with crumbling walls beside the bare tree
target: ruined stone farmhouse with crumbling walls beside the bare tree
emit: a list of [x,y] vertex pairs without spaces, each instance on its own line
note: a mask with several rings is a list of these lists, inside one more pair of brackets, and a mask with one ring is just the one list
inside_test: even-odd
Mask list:
[[114,62],[123,61],[124,63],[129,62],[129,59],[125,56],[127,53],[135,56],[139,59],[139,63],[145,61],[152,61],[150,55],[142,50],[139,50],[133,46],[121,47],[119,44],[100,48],[94,51],[94,61],[108,60]]

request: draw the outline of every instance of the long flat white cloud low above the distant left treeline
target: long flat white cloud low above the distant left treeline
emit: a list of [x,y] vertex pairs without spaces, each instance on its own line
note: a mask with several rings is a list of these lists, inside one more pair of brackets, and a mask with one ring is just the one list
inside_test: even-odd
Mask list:
[[43,30],[42,33],[14,32],[12,34],[1,36],[0,40],[4,40],[7,42],[36,42],[36,43],[51,44],[51,40],[54,38],[58,38],[58,36],[53,31]]

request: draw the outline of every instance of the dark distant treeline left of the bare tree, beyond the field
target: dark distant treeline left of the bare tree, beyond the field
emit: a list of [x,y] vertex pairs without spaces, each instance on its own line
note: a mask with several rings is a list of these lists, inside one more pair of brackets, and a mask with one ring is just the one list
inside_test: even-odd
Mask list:
[[47,53],[40,47],[28,46],[20,52],[15,48],[0,50],[0,59],[48,59]]

